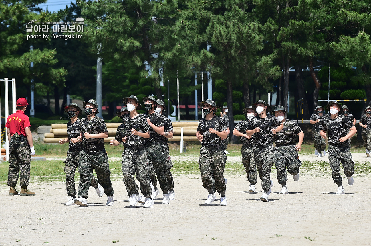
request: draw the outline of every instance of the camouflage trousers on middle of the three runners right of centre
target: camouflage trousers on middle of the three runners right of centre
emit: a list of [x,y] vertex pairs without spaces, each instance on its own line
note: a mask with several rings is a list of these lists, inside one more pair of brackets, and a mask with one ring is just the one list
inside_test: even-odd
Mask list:
[[254,161],[259,178],[262,180],[263,190],[270,189],[270,170],[275,163],[275,149],[273,145],[264,148],[254,147]]

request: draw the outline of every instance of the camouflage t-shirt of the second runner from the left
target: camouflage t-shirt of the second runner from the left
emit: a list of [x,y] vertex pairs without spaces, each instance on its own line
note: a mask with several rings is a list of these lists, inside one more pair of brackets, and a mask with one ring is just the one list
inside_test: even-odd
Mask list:
[[98,153],[99,151],[104,149],[103,138],[86,139],[84,137],[85,132],[88,132],[90,134],[99,134],[107,131],[106,123],[102,118],[95,116],[90,121],[88,121],[88,117],[85,117],[81,119],[80,128],[85,151]]

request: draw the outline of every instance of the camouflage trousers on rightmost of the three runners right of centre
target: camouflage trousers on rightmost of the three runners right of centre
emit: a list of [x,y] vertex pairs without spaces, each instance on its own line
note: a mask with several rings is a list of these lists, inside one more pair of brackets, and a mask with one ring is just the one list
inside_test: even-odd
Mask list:
[[296,175],[299,173],[301,161],[299,159],[298,151],[295,150],[295,145],[276,146],[275,159],[278,183],[287,181],[286,168],[290,175]]

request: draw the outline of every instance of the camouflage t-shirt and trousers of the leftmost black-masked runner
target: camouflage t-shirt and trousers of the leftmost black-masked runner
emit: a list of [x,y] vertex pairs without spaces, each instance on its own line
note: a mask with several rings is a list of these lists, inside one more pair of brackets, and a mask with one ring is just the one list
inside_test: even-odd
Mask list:
[[[77,119],[75,123],[71,123],[71,121],[67,122],[67,135],[70,139],[68,144],[68,151],[67,151],[67,158],[66,158],[66,165],[65,165],[65,173],[66,173],[66,187],[67,187],[67,195],[75,196],[76,189],[75,189],[75,173],[76,169],[79,166],[79,154],[82,151],[83,143],[76,142],[75,144],[71,142],[71,138],[77,138],[80,135],[80,119]],[[91,183],[90,186],[94,188],[98,188],[98,181],[94,178],[93,173],[91,174]]]

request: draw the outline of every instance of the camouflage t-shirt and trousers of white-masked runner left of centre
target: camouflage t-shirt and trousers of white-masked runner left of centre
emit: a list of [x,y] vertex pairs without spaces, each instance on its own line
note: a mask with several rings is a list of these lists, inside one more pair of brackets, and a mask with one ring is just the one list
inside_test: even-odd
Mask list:
[[144,115],[139,114],[134,119],[127,118],[125,120],[125,127],[127,129],[127,148],[125,148],[122,159],[122,173],[124,175],[124,183],[128,194],[135,194],[138,192],[138,185],[134,180],[134,173],[140,183],[140,189],[145,198],[150,198],[152,189],[150,186],[149,176],[149,159],[147,152],[147,139],[138,135],[131,134],[132,128],[138,132],[150,131],[150,126],[147,123]]

